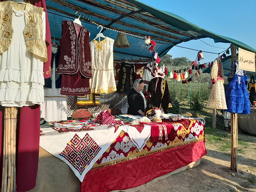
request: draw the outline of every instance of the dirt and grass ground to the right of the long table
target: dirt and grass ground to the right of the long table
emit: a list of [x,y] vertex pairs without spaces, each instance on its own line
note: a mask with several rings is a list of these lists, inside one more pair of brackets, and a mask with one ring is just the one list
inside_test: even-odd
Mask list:
[[256,192],[256,137],[239,132],[239,173],[230,170],[230,132],[210,128],[210,111],[193,114],[206,121],[207,155],[199,166],[160,180],[140,192]]

